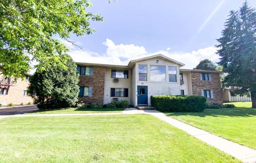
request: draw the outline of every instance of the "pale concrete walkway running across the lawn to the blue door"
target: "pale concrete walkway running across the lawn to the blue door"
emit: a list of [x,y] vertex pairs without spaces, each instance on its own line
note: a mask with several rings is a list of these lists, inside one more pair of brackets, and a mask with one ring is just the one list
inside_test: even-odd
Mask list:
[[9,116],[0,116],[1,118],[6,117],[30,117],[30,116],[89,116],[89,115],[120,115],[120,114],[148,114],[159,118],[160,120],[177,127],[178,129],[186,131],[188,134],[194,136],[195,138],[216,147],[227,154],[230,154],[243,162],[246,163],[256,163],[256,150],[250,149],[238,143],[234,143],[227,139],[223,139],[219,136],[210,134],[196,127],[190,126],[181,121],[175,120],[166,116],[165,114],[157,110],[137,110],[135,108],[127,108],[123,112],[108,112],[108,113],[78,113],[78,114],[18,114]]

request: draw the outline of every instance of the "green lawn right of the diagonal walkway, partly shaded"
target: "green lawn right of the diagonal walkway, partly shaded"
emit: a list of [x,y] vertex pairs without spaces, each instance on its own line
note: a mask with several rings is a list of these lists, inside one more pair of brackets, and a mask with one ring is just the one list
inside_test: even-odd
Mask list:
[[165,114],[199,129],[256,149],[256,109],[247,108],[250,102],[233,104],[239,108],[205,109],[204,112],[166,112]]

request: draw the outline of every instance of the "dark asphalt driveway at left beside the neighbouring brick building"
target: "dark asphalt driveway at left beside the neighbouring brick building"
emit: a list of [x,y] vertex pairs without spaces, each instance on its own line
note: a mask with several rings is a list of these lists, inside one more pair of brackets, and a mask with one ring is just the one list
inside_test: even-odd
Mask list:
[[36,105],[4,108],[4,109],[0,109],[0,116],[24,114],[34,110],[38,110]]

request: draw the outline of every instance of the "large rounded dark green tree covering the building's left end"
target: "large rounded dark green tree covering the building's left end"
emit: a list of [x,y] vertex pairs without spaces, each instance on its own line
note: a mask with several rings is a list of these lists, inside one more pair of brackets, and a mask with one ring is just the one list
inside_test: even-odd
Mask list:
[[77,65],[69,56],[65,55],[65,57],[68,58],[65,64],[66,70],[61,67],[53,67],[45,71],[37,70],[29,78],[28,93],[38,104],[38,108],[76,105],[79,94]]

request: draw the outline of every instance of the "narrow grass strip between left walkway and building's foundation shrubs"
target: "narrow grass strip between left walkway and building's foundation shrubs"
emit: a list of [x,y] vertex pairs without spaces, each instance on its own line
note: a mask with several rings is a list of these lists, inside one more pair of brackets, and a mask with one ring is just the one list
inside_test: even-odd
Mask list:
[[48,109],[48,110],[35,110],[26,114],[67,114],[67,113],[96,113],[96,112],[122,112],[125,108],[99,108],[99,109],[77,109],[77,108],[64,108],[64,109]]

